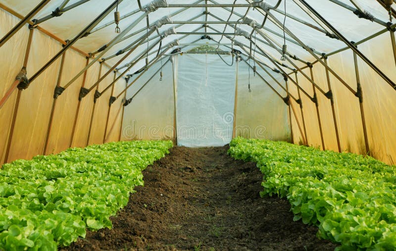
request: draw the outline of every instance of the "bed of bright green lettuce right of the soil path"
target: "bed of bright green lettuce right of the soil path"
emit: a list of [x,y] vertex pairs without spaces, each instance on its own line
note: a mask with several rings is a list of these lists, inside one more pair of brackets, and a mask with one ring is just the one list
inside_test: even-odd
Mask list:
[[261,196],[287,198],[295,220],[339,250],[396,250],[396,167],[351,153],[236,138],[229,154],[257,163]]

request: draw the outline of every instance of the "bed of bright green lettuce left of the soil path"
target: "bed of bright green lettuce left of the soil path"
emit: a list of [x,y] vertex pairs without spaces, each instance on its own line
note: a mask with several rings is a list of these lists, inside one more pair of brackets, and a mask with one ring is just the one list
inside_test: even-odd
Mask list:
[[169,153],[170,141],[74,148],[16,160],[0,170],[0,250],[57,250],[110,216],[143,185],[142,170]]

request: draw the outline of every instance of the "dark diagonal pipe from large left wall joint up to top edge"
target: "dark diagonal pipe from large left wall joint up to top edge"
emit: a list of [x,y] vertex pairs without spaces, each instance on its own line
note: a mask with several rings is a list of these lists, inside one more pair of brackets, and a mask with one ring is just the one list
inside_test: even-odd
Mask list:
[[109,14],[117,5],[117,1],[122,1],[122,0],[115,0],[113,3],[111,3],[102,13],[99,14],[97,18],[95,18],[87,27],[85,27],[74,39],[72,39],[69,43],[67,43],[62,50],[60,50],[58,53],[56,53],[50,60],[47,62],[40,70],[38,70],[30,79],[29,82],[31,83],[33,80],[35,80],[41,73],[43,73],[59,56],[63,54],[63,52],[67,49],[69,49],[74,43],[77,42],[81,37],[84,36],[85,33],[89,32],[91,29],[93,29],[101,20],[103,20],[107,14]]

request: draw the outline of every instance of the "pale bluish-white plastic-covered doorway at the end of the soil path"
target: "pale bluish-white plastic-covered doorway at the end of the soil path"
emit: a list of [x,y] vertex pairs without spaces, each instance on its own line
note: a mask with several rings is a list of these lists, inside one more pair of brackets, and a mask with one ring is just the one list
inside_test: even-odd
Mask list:
[[[224,60],[231,63],[230,56]],[[178,56],[177,141],[179,146],[214,147],[233,133],[237,62],[217,54]]]

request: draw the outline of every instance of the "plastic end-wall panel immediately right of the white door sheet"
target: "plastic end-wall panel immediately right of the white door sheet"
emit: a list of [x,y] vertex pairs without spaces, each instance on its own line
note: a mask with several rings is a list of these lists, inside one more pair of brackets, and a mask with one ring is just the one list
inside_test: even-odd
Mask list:
[[[250,60],[253,66],[253,60]],[[267,69],[267,71],[271,71]],[[283,97],[286,93],[258,65],[257,73],[266,79]],[[250,75],[250,76],[249,76]],[[284,83],[280,74],[278,82]],[[248,84],[250,83],[250,90]],[[283,84],[284,86],[284,84]],[[274,93],[245,61],[238,65],[238,101],[235,136],[245,138],[290,140],[290,126],[286,103]]]

